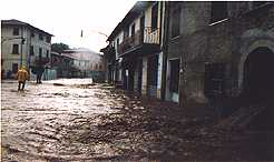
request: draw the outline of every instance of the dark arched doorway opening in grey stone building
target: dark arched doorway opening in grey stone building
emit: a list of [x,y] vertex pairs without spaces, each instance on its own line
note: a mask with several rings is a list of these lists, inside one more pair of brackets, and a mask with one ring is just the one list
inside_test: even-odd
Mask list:
[[265,47],[251,52],[244,63],[243,94],[261,102],[274,97],[274,53]]

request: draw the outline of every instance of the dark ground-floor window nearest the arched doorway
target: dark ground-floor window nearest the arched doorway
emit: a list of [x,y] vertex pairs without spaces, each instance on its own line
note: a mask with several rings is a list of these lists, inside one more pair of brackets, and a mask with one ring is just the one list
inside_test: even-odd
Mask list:
[[224,92],[225,63],[205,64],[204,92],[208,98],[219,97]]

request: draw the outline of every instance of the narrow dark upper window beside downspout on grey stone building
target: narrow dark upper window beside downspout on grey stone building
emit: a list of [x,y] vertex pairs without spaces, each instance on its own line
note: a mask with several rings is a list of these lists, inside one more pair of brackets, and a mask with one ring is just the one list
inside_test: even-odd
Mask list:
[[172,12],[172,38],[179,36],[179,23],[180,23],[180,6],[177,2],[173,2]]

